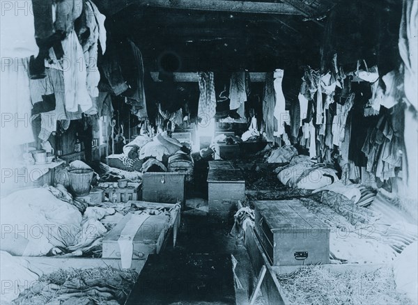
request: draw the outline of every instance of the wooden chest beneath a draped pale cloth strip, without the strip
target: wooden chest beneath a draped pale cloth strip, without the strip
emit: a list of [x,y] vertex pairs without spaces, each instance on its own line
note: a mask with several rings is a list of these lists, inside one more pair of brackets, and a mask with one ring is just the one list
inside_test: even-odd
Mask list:
[[[121,258],[121,251],[118,239],[132,214],[127,214],[123,219],[112,228],[103,239],[103,258]],[[138,228],[132,243],[134,249],[132,258],[146,259],[148,254],[160,253],[166,240],[169,230],[169,217],[165,214],[150,215],[146,221]]]

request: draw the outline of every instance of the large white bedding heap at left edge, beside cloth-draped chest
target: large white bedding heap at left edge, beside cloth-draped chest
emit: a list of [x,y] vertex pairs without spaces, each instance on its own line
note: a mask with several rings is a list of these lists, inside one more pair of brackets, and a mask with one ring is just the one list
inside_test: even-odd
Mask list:
[[53,194],[49,187],[42,187],[22,189],[3,198],[0,223],[4,238],[0,250],[14,256],[82,256],[98,247],[107,233],[99,218],[114,210],[93,213],[87,208],[83,215],[61,196],[61,191],[54,190]]

